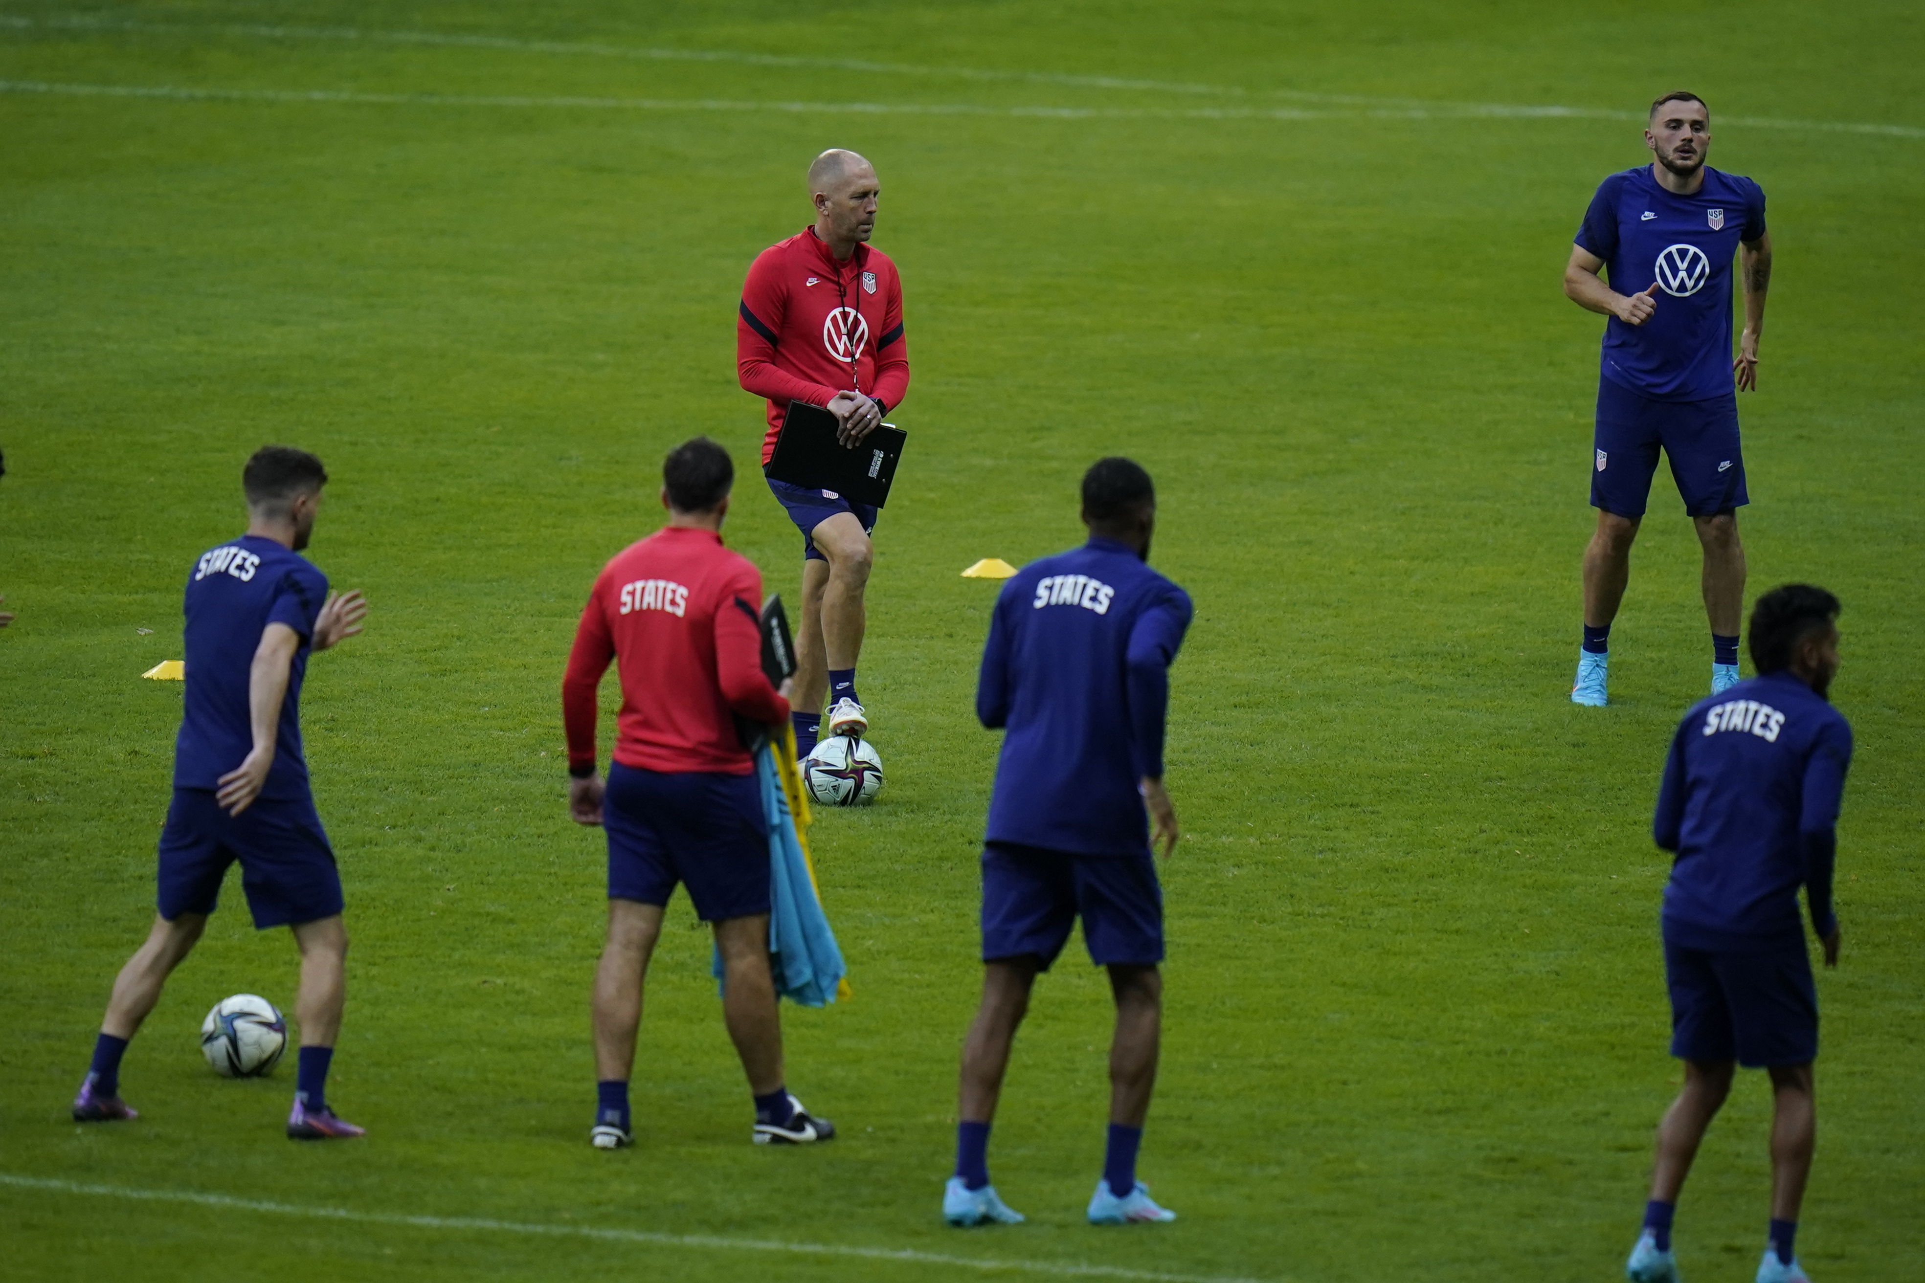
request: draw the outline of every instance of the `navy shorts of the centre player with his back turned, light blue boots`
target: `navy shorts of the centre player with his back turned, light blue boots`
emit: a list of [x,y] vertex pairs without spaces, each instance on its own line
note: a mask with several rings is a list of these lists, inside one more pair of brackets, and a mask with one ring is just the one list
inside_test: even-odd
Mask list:
[[982,848],[982,960],[1041,958],[1043,969],[1084,919],[1097,966],[1163,962],[1163,887],[1149,852],[1074,856],[1041,846]]

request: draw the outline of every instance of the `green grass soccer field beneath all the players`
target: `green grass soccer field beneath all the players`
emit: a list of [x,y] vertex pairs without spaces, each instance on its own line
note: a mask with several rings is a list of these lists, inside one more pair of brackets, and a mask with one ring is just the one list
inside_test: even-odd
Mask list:
[[[1679,1081],[1650,808],[1709,642],[1661,469],[1613,704],[1567,700],[1602,319],[1559,273],[1682,85],[1777,248],[1748,600],[1846,606],[1800,1256],[1915,1279],[1921,62],[1913,4],[0,0],[0,1273],[1621,1277]],[[795,598],[735,302],[824,146],[882,175],[914,365],[862,654],[889,783],[812,831],[853,996],[783,1012],[789,1085],[841,1139],[749,1145],[678,900],[639,1145],[595,1152],[603,843],[566,818],[562,664],[693,433],[747,473],[732,546]],[[237,877],[127,1056],[142,1118],[75,1125],[152,916],[181,687],[139,675],[179,658],[183,573],[268,440],[325,460],[310,556],[372,602],[304,700],[354,939],[329,1098],[370,1139],[289,1145],[293,1062],[198,1056],[218,998],[293,1004]],[[989,1154],[1030,1223],[959,1233],[995,583],[957,571],[1076,542],[1109,452],[1155,475],[1153,562],[1197,612],[1142,1160],[1182,1220],[1082,1220],[1111,1014],[1072,943]],[[1700,1154],[1692,1283],[1752,1277],[1767,1110],[1742,1075]]]

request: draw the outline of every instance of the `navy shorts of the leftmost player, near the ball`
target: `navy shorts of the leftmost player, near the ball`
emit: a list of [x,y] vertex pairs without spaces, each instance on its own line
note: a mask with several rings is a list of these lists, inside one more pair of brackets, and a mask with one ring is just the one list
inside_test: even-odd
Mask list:
[[341,871],[314,798],[254,798],[229,816],[212,789],[175,789],[160,831],[160,916],[212,914],[235,860],[262,931],[341,912]]

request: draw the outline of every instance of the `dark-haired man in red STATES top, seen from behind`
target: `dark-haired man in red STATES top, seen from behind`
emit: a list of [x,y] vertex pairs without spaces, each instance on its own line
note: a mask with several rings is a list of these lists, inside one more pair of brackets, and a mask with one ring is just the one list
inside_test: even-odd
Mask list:
[[[782,1071],[782,1018],[768,968],[768,819],[737,717],[782,725],[783,692],[762,675],[762,575],[722,546],[735,467],[697,437],[662,464],[668,525],[595,579],[562,679],[568,810],[608,835],[608,943],[595,971],[595,1148],[633,1141],[628,1079],[641,991],[676,885],[714,927],[722,1016],[755,1094],[757,1145],[828,1141]],[[622,714],[608,781],[595,771],[595,692],[610,660]]]

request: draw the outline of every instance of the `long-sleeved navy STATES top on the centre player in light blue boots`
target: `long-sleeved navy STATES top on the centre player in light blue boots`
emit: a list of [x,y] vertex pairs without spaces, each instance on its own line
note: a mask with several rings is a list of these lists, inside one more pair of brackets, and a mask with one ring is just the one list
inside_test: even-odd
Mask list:
[[1149,854],[1138,781],[1163,775],[1168,667],[1190,594],[1111,539],[1024,566],[982,650],[976,716],[1007,727],[991,843]]

